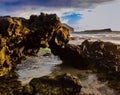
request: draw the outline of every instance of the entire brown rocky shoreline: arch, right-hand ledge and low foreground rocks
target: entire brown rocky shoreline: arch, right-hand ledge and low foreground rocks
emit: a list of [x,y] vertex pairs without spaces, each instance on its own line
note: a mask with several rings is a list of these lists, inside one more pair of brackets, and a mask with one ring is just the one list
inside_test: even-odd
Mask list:
[[69,36],[69,29],[56,14],[41,13],[29,19],[0,17],[0,94],[79,95],[80,79],[69,73],[34,78],[26,86],[16,80],[18,62],[37,56],[40,47],[50,48],[63,64],[91,69],[101,81],[108,81],[110,87],[120,91],[120,45],[89,40],[68,44]]

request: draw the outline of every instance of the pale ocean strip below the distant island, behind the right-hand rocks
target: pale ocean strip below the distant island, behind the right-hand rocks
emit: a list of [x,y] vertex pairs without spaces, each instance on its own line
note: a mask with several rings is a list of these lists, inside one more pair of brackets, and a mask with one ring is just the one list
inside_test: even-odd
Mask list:
[[91,41],[101,40],[104,42],[112,42],[120,44],[120,31],[113,32],[71,32],[71,37],[74,40],[70,40],[70,44],[81,44],[84,40]]

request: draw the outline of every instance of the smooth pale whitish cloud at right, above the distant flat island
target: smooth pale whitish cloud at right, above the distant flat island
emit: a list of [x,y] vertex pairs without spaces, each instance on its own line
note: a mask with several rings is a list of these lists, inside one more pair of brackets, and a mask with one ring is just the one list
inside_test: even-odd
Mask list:
[[120,30],[120,1],[104,4],[93,9],[91,12],[87,10],[81,12],[82,19],[79,19],[73,27],[76,30],[103,29],[111,28]]

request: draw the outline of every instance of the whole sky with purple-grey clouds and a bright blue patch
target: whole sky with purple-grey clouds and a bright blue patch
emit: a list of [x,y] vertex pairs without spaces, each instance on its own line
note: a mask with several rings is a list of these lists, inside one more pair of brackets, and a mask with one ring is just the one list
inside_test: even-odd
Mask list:
[[0,0],[0,16],[29,18],[41,12],[56,13],[76,31],[120,30],[120,0]]

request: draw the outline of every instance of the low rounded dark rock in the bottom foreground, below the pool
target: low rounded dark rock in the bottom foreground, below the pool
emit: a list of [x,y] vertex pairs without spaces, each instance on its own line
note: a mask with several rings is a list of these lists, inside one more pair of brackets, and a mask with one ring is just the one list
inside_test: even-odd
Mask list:
[[24,95],[79,95],[80,79],[69,73],[34,78],[23,89]]

